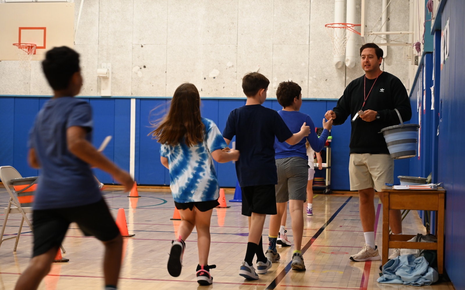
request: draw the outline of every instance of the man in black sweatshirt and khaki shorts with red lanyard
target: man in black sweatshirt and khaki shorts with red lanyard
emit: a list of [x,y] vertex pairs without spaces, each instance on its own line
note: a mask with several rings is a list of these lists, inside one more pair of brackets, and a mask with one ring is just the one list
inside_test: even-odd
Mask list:
[[[374,194],[378,191],[383,200],[381,187],[385,182],[394,181],[394,160],[389,155],[381,129],[400,123],[397,109],[402,120],[412,117],[410,100],[404,84],[392,74],[381,71],[383,50],[374,43],[360,47],[360,58],[365,75],[354,79],[344,90],[344,95],[332,110],[326,112],[326,119],[332,117],[334,125],[351,118],[349,177],[350,189],[359,191],[360,219],[365,235],[363,249],[350,259],[352,261],[380,260],[374,243]],[[390,225],[392,233],[402,233],[400,210],[391,210]],[[395,258],[400,249],[393,249]]]

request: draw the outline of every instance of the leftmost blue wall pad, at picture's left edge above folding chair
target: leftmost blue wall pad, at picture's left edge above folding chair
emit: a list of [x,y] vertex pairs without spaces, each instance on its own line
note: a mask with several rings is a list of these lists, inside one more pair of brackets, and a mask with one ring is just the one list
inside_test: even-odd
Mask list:
[[0,166],[13,166],[14,98],[0,98]]

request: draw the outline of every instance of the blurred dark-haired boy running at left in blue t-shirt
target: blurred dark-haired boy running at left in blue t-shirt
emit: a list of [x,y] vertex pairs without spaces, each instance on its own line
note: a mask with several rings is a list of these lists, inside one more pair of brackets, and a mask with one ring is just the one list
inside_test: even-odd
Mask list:
[[79,54],[66,46],[54,47],[42,68],[54,97],[40,110],[29,136],[29,165],[42,170],[33,205],[33,258],[15,290],[37,289],[72,222],[105,245],[105,289],[115,290],[123,240],[91,166],[112,174],[126,191],[134,181],[92,146],[91,107],[73,98],[82,86]]

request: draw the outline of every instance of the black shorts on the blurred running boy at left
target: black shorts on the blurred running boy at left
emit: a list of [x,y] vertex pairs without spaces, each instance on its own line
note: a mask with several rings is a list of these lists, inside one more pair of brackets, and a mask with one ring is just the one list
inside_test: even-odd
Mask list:
[[105,242],[120,234],[105,200],[84,206],[33,210],[33,257],[57,248],[65,238],[69,224],[75,222],[86,236]]

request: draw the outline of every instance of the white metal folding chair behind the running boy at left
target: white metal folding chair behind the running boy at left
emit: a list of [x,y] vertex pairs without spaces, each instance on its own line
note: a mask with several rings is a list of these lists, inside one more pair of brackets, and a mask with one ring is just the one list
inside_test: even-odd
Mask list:
[[[3,243],[3,241],[6,241],[7,239],[15,238],[16,242],[14,243],[14,248],[13,251],[16,251],[16,247],[18,246],[18,242],[20,241],[20,235],[21,235],[21,229],[23,227],[24,220],[26,220],[27,225],[31,229],[32,224],[29,221],[29,219],[26,216],[26,213],[32,213],[32,206],[31,207],[21,207],[20,202],[18,201],[17,196],[15,196],[12,192],[12,188],[10,186],[13,185],[11,182],[12,179],[16,178],[22,178],[21,174],[14,169],[11,166],[1,166],[0,167],[0,180],[3,182],[3,185],[7,189],[7,192],[10,194],[10,200],[8,202],[8,207],[4,208],[4,213],[5,213],[5,219],[3,220],[3,226],[1,228],[0,232],[0,246]],[[5,227],[7,226],[7,220],[8,220],[8,215],[10,213],[20,213],[21,214],[21,223],[20,223],[20,229],[18,230],[18,234],[16,236],[11,236],[8,238],[3,238],[3,233],[5,232]],[[60,245],[61,251],[66,253],[65,249],[63,248],[62,245]]]

